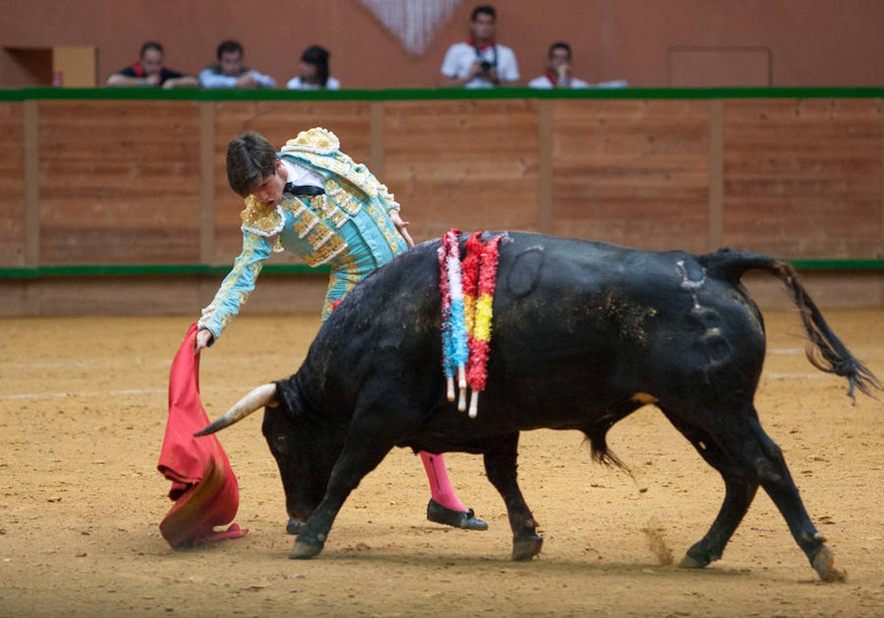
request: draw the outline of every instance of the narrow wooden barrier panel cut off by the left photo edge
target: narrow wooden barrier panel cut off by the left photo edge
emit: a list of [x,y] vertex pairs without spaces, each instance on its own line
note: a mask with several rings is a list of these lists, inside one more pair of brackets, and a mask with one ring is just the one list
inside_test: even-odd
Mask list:
[[0,265],[21,267],[26,265],[24,103],[0,103],[0,134]]

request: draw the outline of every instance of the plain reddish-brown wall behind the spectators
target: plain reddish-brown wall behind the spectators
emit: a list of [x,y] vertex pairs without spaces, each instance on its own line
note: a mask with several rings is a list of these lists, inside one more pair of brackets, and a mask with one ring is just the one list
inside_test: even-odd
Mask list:
[[[248,65],[282,85],[296,72],[301,50],[317,43],[332,51],[332,74],[345,87],[423,88],[436,84],[447,47],[466,37],[474,4],[461,2],[422,57],[409,57],[357,0],[2,0],[0,45],[94,45],[103,81],[131,64],[147,39],[164,43],[171,68],[197,72],[213,61],[217,42],[236,38],[246,47]],[[543,72],[549,43],[563,39],[574,48],[575,72],[590,81],[669,86],[671,48],[761,47],[770,50],[775,86],[884,83],[884,3],[873,0],[492,4],[499,12],[499,41],[516,51],[523,80]],[[703,65],[702,58],[692,62]],[[743,68],[733,69],[735,80]],[[721,71],[714,85],[728,80],[728,67]],[[0,86],[27,85],[27,74],[0,51]]]

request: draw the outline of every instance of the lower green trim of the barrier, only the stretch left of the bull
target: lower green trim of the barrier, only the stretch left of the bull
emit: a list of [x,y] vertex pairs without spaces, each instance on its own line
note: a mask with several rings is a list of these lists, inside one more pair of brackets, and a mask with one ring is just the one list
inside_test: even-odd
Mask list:
[[[141,275],[226,275],[230,266],[211,264],[74,264],[40,266],[38,268],[0,268],[0,279],[34,279],[47,277],[96,277]],[[267,264],[264,274],[305,275],[329,273],[328,265],[311,268],[307,264]]]

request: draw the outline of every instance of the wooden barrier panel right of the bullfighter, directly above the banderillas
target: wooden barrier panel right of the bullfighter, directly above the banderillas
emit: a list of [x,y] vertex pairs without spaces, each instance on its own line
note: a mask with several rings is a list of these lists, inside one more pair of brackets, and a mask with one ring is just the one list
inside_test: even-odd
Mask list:
[[385,182],[415,242],[537,230],[537,100],[388,101]]

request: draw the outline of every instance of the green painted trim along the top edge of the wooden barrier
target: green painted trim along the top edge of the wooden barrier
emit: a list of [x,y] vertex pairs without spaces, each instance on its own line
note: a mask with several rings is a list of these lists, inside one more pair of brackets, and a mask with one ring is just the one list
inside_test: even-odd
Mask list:
[[744,99],[884,97],[880,87],[842,88],[401,88],[386,90],[201,90],[198,88],[19,88],[0,102],[28,99],[149,101],[413,101],[446,99]]

